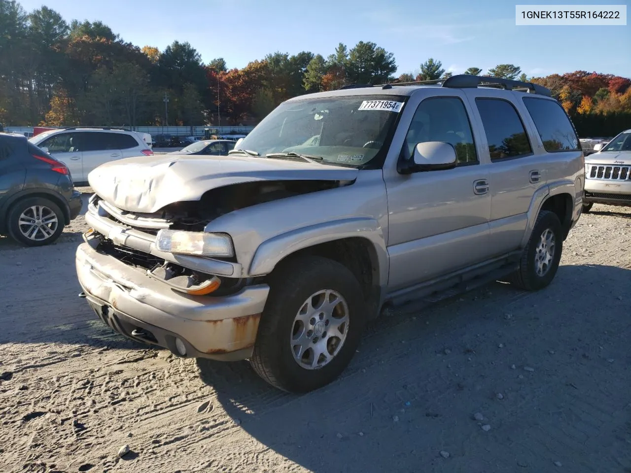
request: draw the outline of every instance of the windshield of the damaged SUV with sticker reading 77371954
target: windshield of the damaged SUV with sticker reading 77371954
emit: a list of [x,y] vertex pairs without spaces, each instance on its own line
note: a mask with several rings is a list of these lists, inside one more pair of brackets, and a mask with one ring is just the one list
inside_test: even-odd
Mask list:
[[320,156],[326,163],[362,166],[387,150],[406,97],[331,96],[281,103],[236,149]]

